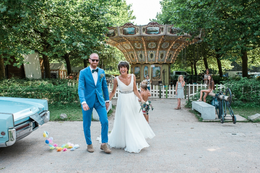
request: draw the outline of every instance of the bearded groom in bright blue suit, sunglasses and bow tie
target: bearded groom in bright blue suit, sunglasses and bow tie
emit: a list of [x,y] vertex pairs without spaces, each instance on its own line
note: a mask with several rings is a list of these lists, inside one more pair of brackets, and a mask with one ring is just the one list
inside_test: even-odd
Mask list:
[[[96,109],[101,123],[101,139],[102,144],[100,149],[105,153],[111,153],[107,148],[108,137],[108,119],[107,109],[109,107],[109,95],[107,89],[107,81],[105,71],[97,67],[99,64],[99,56],[96,53],[90,55],[90,66],[83,69],[79,73],[79,100],[81,102],[83,113],[83,129],[88,144],[88,152],[94,152],[94,148],[90,138],[91,115],[93,108]],[[103,91],[103,93],[102,93]],[[103,98],[103,94],[105,100]]]

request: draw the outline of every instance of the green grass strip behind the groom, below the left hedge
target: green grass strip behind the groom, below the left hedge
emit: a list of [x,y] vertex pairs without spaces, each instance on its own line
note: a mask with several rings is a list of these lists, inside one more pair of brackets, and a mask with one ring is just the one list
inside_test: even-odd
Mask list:
[[[113,105],[112,110],[108,111],[107,116],[111,116],[116,107]],[[52,106],[49,105],[50,121],[83,121],[81,106]],[[65,113],[68,118],[61,119],[60,114]]]

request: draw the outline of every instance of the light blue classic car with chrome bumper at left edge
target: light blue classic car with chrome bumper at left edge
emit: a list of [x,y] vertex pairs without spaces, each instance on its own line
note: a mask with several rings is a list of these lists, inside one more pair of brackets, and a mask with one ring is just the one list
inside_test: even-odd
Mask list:
[[13,145],[49,119],[47,100],[0,97],[0,147]]

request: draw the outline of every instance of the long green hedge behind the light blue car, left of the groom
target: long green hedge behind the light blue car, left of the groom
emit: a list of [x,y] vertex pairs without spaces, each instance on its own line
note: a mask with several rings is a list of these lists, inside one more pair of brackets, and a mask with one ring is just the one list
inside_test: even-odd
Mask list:
[[8,79],[1,81],[0,96],[46,99],[49,104],[80,103],[77,81],[66,79]]

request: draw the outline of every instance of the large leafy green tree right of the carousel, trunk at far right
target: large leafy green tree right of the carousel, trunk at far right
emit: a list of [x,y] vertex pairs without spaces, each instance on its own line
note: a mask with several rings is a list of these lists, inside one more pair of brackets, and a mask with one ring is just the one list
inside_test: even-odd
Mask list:
[[[248,77],[248,51],[260,42],[260,1],[163,0],[157,21],[174,23],[185,33],[205,31],[205,41],[217,54],[233,61],[229,52],[242,60],[243,77]],[[218,57],[220,58],[220,57]]]

